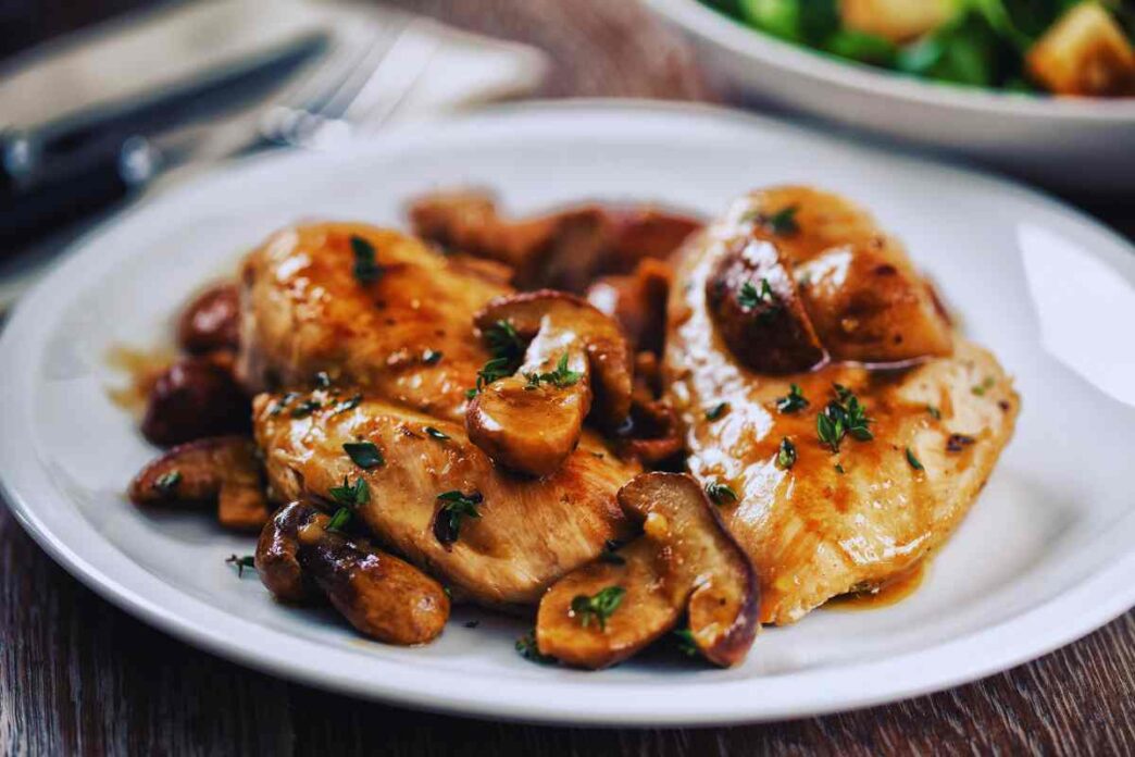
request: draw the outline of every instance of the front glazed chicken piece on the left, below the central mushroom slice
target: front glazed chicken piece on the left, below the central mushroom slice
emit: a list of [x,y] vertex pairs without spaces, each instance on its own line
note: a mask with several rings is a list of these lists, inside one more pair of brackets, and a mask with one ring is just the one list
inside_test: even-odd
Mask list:
[[[519,478],[495,468],[461,423],[380,401],[344,404],[345,396],[326,389],[257,398],[254,429],[274,495],[334,502],[334,487],[356,490],[365,481],[356,512],[369,530],[479,603],[535,604],[556,579],[598,557],[608,539],[633,531],[615,495],[640,469],[590,431],[552,476]],[[375,445],[382,462],[371,455],[368,468],[356,464],[344,444],[360,441]],[[459,496],[476,515],[462,510],[455,535],[439,535],[436,519],[449,518],[439,511]]]

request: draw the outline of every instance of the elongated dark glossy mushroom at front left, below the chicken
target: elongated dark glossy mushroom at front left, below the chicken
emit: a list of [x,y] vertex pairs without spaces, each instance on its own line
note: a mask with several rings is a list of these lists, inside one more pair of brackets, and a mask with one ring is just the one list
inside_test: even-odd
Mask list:
[[434,640],[449,619],[440,583],[373,548],[328,529],[330,519],[305,502],[281,510],[257,546],[257,567],[281,599],[310,597],[310,582],[361,633],[410,646]]

